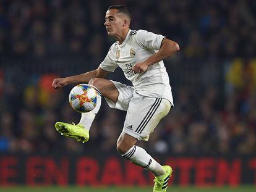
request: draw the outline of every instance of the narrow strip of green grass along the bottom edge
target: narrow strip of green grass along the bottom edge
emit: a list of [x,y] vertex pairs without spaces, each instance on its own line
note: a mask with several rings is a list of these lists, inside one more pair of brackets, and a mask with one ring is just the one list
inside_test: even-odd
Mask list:
[[[0,186],[1,192],[148,192],[152,191],[153,187],[145,187],[145,188],[132,188],[132,187],[97,187],[97,188],[89,188],[89,187],[77,187],[77,186],[67,186],[67,187],[59,187],[59,186],[36,186],[36,187],[28,187],[28,186],[12,186],[12,187],[2,187]],[[194,187],[194,186],[169,186],[167,192],[255,192],[256,186],[239,186],[239,187]]]

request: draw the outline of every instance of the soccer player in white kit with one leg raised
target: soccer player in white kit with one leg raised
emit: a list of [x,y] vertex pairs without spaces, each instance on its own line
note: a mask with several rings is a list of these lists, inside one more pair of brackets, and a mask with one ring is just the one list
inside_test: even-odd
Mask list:
[[[138,140],[147,141],[150,133],[173,107],[173,96],[163,59],[179,50],[179,45],[162,35],[145,30],[130,30],[131,13],[126,6],[111,6],[105,17],[106,31],[116,38],[104,61],[96,70],[53,80],[53,88],[70,83],[89,83],[98,92],[93,111],[83,113],[78,125],[57,122],[55,127],[64,136],[87,142],[89,130],[100,109],[101,96],[108,105],[127,111],[117,151],[132,163],[155,175],[153,191],[166,191],[172,169],[161,166],[145,149],[136,146]],[[133,86],[106,80],[109,72],[121,67]]]

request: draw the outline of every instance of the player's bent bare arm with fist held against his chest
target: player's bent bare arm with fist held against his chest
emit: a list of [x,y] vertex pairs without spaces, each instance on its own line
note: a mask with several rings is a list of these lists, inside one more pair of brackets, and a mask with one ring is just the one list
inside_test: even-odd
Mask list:
[[172,40],[164,38],[159,51],[148,57],[147,60],[135,64],[134,67],[132,67],[132,70],[135,73],[143,73],[148,69],[150,65],[153,65],[157,62],[162,61],[163,59],[166,59],[167,57],[172,56],[176,51],[179,51],[179,44]]

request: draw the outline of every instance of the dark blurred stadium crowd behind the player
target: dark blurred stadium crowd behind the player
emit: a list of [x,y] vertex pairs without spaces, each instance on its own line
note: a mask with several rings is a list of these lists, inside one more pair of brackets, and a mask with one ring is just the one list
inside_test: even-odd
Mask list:
[[[166,59],[174,109],[140,143],[164,154],[255,154],[256,1],[0,1],[0,152],[116,152],[125,113],[105,102],[87,144],[62,138],[56,121],[79,122],[55,77],[98,67],[115,41],[105,12],[132,10],[133,30],[179,43]],[[127,82],[120,70],[109,78]]]

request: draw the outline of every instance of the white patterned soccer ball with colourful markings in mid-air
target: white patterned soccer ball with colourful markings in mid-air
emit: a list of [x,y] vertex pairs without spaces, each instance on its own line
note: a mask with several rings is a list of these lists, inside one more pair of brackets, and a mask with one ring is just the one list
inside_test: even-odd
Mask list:
[[90,85],[74,86],[69,93],[69,104],[75,111],[83,113],[94,109],[97,102],[97,91]]

